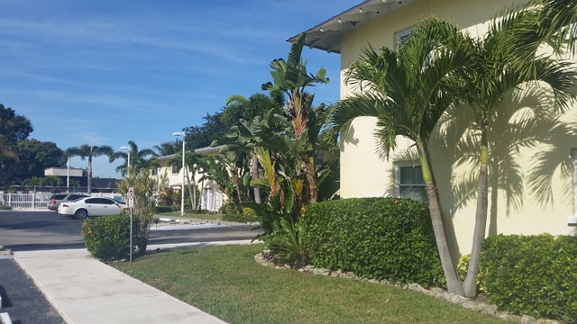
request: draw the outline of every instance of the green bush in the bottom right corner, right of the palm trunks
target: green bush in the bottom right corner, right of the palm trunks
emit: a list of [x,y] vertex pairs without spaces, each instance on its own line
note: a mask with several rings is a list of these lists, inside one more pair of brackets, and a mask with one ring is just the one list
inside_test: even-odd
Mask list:
[[479,280],[500,309],[577,323],[577,238],[499,235],[482,243]]

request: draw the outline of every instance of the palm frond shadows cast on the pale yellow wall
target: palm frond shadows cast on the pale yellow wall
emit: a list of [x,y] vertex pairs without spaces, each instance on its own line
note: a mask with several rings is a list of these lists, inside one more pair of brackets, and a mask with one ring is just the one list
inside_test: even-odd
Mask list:
[[[503,98],[490,116],[489,235],[499,233],[499,211],[504,208],[507,216],[520,211],[524,197],[544,208],[554,201],[571,201],[570,182],[563,182],[565,194],[554,195],[552,188],[556,178],[572,176],[571,153],[572,143],[577,142],[577,121],[567,121],[552,113],[552,100],[543,88],[517,89]],[[480,139],[481,131],[472,110],[465,106],[447,111],[431,139],[435,180],[443,193],[441,202],[448,218],[453,219],[468,207],[474,219]],[[528,160],[531,151],[527,149],[536,152]],[[453,221],[445,224],[447,238],[458,247]],[[459,257],[458,250],[453,251],[453,257]]]

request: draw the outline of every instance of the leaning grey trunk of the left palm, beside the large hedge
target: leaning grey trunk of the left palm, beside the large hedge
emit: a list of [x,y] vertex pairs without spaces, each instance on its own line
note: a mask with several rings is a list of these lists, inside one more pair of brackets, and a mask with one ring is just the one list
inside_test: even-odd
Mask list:
[[428,151],[426,145],[423,143],[417,143],[417,147],[419,149],[419,159],[421,170],[423,172],[423,179],[425,180],[426,198],[429,202],[431,223],[433,224],[433,231],[435,232],[436,248],[439,251],[439,257],[441,258],[441,266],[443,266],[444,278],[447,282],[447,290],[449,293],[463,296],[463,284],[461,284],[459,276],[457,275],[457,269],[454,266],[453,257],[451,257],[449,243],[446,234],[444,233],[444,220],[443,215],[441,214],[435,180],[431,173]]

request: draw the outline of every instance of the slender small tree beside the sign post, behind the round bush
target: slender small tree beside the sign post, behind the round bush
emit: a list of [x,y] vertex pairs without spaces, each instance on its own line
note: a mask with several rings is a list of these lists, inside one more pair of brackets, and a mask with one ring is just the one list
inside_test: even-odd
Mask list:
[[138,220],[138,250],[140,253],[146,253],[148,245],[148,234],[151,228],[151,222],[156,210],[154,193],[157,187],[157,181],[151,176],[150,169],[142,169],[137,174],[131,173],[118,183],[118,192],[125,195],[128,188],[134,189],[134,209],[133,217]]

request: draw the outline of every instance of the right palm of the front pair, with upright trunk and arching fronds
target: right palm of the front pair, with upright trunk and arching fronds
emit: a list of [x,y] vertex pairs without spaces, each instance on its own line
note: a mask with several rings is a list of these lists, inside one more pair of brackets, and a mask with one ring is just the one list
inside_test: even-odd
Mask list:
[[[476,295],[476,279],[481,260],[481,241],[485,238],[488,214],[488,166],[490,161],[490,121],[495,110],[506,94],[512,93],[522,85],[548,85],[554,94],[553,110],[564,111],[572,99],[572,85],[577,74],[572,65],[545,56],[536,56],[536,52],[517,51],[524,41],[514,37],[519,26],[537,23],[538,14],[513,8],[502,19],[494,20],[490,30],[475,40],[472,47],[470,74],[463,77],[463,89],[468,89],[464,97],[470,103],[480,130],[480,173],[475,228],[473,229],[471,261],[463,283],[467,297]],[[545,34],[544,34],[545,35]],[[528,35],[526,35],[528,36]],[[535,38],[536,35],[533,35]],[[545,37],[541,42],[545,42]],[[536,40],[532,40],[536,41]],[[519,53],[523,57],[519,56]],[[496,171],[496,170],[495,170]]]

